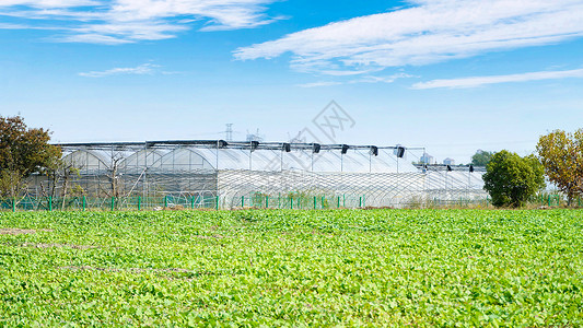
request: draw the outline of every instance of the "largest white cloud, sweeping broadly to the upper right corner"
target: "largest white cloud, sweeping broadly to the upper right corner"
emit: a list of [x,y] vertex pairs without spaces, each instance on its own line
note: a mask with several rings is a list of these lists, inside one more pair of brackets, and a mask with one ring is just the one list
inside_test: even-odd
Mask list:
[[417,0],[243,47],[235,58],[291,52],[292,68],[326,73],[422,66],[487,51],[547,45],[583,35],[581,0]]

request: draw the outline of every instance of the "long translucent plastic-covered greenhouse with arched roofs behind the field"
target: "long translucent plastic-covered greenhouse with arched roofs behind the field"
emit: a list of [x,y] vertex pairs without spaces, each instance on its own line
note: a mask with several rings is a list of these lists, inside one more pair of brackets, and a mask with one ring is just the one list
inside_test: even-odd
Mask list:
[[[476,202],[483,168],[427,165],[423,148],[284,142],[63,143],[28,196],[164,198],[163,206],[363,208]],[[84,201],[84,200],[83,200]]]

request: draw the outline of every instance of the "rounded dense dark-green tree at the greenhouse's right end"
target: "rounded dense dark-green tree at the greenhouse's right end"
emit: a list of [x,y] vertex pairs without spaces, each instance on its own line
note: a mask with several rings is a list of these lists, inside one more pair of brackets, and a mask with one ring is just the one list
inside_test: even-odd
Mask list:
[[522,207],[545,187],[544,168],[537,157],[501,151],[493,154],[483,175],[483,189],[495,207]]

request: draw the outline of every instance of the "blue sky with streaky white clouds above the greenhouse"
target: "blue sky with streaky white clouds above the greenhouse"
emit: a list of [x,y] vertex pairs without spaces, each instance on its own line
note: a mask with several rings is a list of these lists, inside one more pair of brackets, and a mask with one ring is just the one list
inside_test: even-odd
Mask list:
[[[2,0],[0,115],[54,141],[338,143],[467,163],[583,127],[582,0]],[[311,140],[307,140],[311,141]]]

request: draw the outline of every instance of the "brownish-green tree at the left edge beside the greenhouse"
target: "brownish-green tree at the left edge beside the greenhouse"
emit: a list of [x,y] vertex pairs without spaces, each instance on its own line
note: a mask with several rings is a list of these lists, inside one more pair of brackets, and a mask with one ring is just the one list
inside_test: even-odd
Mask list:
[[0,196],[16,197],[26,177],[60,159],[61,150],[49,140],[48,130],[27,128],[20,116],[0,116]]

